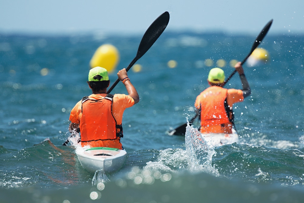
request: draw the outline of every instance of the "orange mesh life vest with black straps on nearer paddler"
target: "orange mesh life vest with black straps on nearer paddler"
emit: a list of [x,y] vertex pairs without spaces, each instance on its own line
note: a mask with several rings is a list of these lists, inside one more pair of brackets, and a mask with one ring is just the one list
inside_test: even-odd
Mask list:
[[113,95],[108,94],[102,99],[82,98],[82,115],[80,118],[81,142],[98,140],[114,140],[123,137],[122,125],[112,114]]

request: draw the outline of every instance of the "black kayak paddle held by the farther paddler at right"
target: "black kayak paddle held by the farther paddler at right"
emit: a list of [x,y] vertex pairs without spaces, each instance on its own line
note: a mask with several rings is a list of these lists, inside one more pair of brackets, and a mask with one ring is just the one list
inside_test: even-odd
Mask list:
[[[248,57],[252,54],[252,52],[257,48],[257,46],[259,46],[259,44],[262,42],[262,40],[264,39],[264,37],[266,36],[266,34],[268,33],[268,30],[272,24],[273,19],[271,19],[262,29],[262,31],[260,32],[260,34],[257,36],[257,38],[255,39],[250,52],[248,53],[248,55],[244,58],[244,60],[242,61],[242,65],[245,63],[245,61],[248,59]],[[224,81],[224,85],[231,79],[231,77],[237,72],[237,70],[234,70],[233,73],[227,78],[226,81]],[[224,86],[223,85],[223,86]],[[191,126],[194,119],[198,116],[198,114],[195,114],[195,116],[189,121],[189,125]],[[177,127],[176,129],[172,130],[171,132],[168,132],[169,135],[185,135],[186,134],[186,127],[187,127],[187,123]]]

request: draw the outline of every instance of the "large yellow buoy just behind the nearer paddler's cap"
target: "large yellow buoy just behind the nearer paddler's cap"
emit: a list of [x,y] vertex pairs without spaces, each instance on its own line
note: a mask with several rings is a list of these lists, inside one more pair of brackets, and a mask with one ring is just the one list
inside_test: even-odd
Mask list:
[[119,52],[112,44],[104,44],[97,48],[92,59],[90,60],[90,67],[97,66],[107,69],[109,73],[115,70],[119,62]]

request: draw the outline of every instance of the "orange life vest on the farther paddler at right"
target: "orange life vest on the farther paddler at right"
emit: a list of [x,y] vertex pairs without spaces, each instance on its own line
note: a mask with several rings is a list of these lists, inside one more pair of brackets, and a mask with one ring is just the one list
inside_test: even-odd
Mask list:
[[201,126],[214,126],[233,122],[233,118],[231,120],[227,116],[227,113],[232,113],[231,109],[227,112],[227,91],[225,88],[211,86],[202,92],[200,97]]

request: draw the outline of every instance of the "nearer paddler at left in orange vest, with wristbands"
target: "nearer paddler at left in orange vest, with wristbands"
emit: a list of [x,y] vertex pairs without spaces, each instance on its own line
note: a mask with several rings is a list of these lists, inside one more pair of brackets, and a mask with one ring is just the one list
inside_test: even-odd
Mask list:
[[139,96],[127,75],[126,69],[117,73],[129,95],[107,95],[110,81],[108,71],[95,67],[89,71],[88,85],[92,95],[79,101],[70,114],[69,131],[80,131],[81,146],[112,147],[122,149],[123,112],[139,102]]

